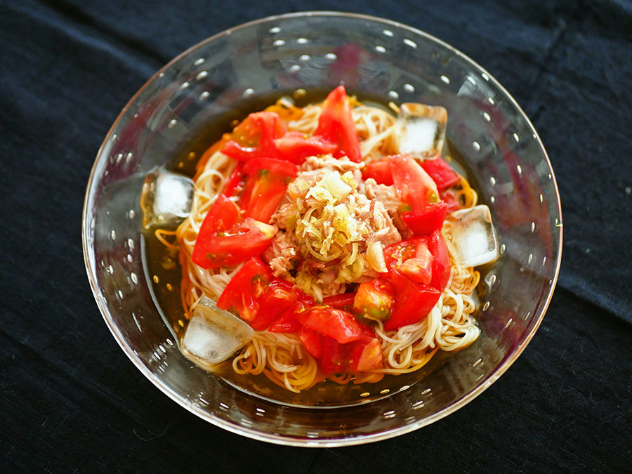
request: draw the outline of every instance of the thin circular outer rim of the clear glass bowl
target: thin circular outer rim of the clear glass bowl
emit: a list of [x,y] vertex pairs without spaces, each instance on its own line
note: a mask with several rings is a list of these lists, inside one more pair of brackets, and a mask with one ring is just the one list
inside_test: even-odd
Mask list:
[[[95,180],[97,165],[99,164],[100,159],[102,158],[103,150],[105,149],[107,143],[110,141],[110,138],[112,137],[112,133],[114,133],[114,129],[116,129],[117,125],[119,124],[119,121],[124,117],[124,114],[126,114],[129,107],[136,101],[136,99],[140,96],[140,94],[142,94],[143,91],[145,91],[145,88],[147,88],[147,86],[149,86],[155,79],[161,77],[162,73],[165,70],[169,69],[169,67],[171,67],[173,64],[178,62],[180,59],[184,58],[186,55],[189,55],[190,53],[195,51],[197,48],[211,41],[215,41],[216,39],[220,37],[225,37],[228,34],[231,34],[232,32],[235,32],[239,29],[252,27],[254,25],[263,24],[265,22],[285,20],[288,18],[301,18],[301,17],[310,18],[310,17],[315,17],[315,16],[336,16],[336,17],[343,17],[343,18],[353,18],[356,20],[369,20],[371,22],[382,23],[383,25],[389,25],[392,27],[400,28],[400,29],[406,29],[409,32],[412,32],[413,34],[419,35],[425,39],[433,41],[436,44],[439,44],[443,48],[446,48],[447,50],[449,50],[454,55],[457,55],[463,60],[465,60],[466,62],[468,62],[475,70],[478,70],[478,72],[480,72],[481,74],[486,74],[487,77],[489,77],[489,82],[491,82],[492,84],[494,84],[494,86],[499,88],[499,91],[505,94],[506,98],[508,98],[511,105],[513,105],[513,107],[515,107],[515,109],[518,110],[518,112],[522,116],[522,119],[524,119],[525,122],[527,123],[527,126],[529,126],[532,136],[533,138],[535,138],[536,142],[538,143],[541,152],[544,154],[544,158],[546,159],[546,164],[548,165],[549,173],[551,173],[551,181],[555,189],[555,200],[557,202],[558,214],[560,216],[559,223],[557,224],[559,228],[559,232],[560,232],[559,251],[558,251],[557,259],[555,261],[555,273],[553,277],[551,278],[551,284],[549,285],[550,288],[548,290],[548,294],[546,295],[546,301],[544,301],[544,305],[541,306],[539,317],[536,320],[534,326],[532,327],[531,331],[529,331],[529,334],[527,334],[524,341],[522,341],[522,343],[518,345],[518,348],[515,349],[515,353],[513,353],[511,357],[508,357],[508,359],[506,359],[501,364],[501,366],[496,369],[496,371],[492,372],[492,374],[489,374],[489,376],[487,377],[487,379],[485,379],[483,383],[480,383],[479,386],[476,386],[475,388],[473,388],[473,390],[466,393],[466,395],[463,395],[461,399],[456,400],[456,402],[449,405],[448,407],[445,407],[444,409],[441,409],[439,412],[431,414],[430,416],[427,416],[426,418],[421,419],[419,421],[415,421],[414,423],[398,426],[397,428],[380,431],[378,433],[371,433],[368,435],[364,435],[364,434],[354,435],[351,437],[304,438],[304,437],[292,437],[289,435],[272,435],[272,433],[265,433],[263,431],[254,430],[252,428],[246,428],[244,426],[239,426],[239,425],[230,423],[229,421],[220,419],[217,416],[214,416],[213,414],[204,411],[204,409],[199,407],[197,404],[194,404],[186,400],[185,397],[177,393],[175,390],[172,390],[169,386],[166,385],[166,383],[162,381],[161,378],[157,377],[152,371],[150,371],[150,369],[148,369],[145,366],[145,364],[143,363],[142,360],[140,360],[140,357],[138,355],[133,353],[133,350],[126,344],[124,336],[121,334],[121,331],[119,331],[119,329],[110,319],[107,306],[105,305],[105,302],[100,298],[100,291],[98,289],[97,282],[96,282],[96,270],[95,268],[93,268],[93,265],[91,265],[91,261],[90,261],[90,250],[89,250],[89,242],[88,242],[88,235],[90,233],[90,224],[88,223],[88,219],[87,219],[88,212],[89,212],[88,200],[89,200],[89,193],[90,193],[91,187],[93,186],[93,181]],[[131,362],[138,368],[138,370],[140,370],[140,372],[143,375],[145,375],[145,377],[150,382],[152,382],[154,386],[156,386],[159,390],[161,390],[162,393],[164,393],[169,398],[171,398],[171,400],[173,400],[180,406],[185,407],[185,409],[187,409],[189,412],[192,412],[192,414],[199,416],[205,421],[209,421],[209,423],[212,423],[215,426],[224,428],[225,430],[228,430],[231,433],[235,433],[237,435],[244,435],[254,440],[270,442],[276,445],[296,446],[296,447],[342,447],[342,446],[362,445],[362,444],[366,444],[370,442],[387,440],[387,439],[390,439],[391,437],[404,435],[406,433],[411,433],[414,430],[423,428],[423,426],[428,426],[430,423],[434,423],[435,421],[438,421],[444,418],[445,416],[453,412],[456,412],[456,410],[460,409],[461,407],[464,407],[470,401],[478,397],[478,395],[480,395],[485,390],[487,390],[487,388],[489,388],[489,386],[491,386],[492,383],[498,380],[500,376],[504,374],[505,371],[509,367],[511,367],[513,362],[515,362],[515,360],[518,359],[518,357],[525,350],[529,342],[532,340],[534,334],[536,333],[542,320],[544,319],[544,315],[546,314],[548,305],[551,303],[551,298],[553,298],[553,293],[555,291],[555,287],[558,282],[558,276],[560,274],[560,264],[562,261],[562,242],[563,242],[562,206],[560,202],[560,192],[558,189],[558,183],[557,183],[557,180],[555,179],[553,166],[551,166],[551,160],[548,158],[548,154],[546,152],[546,149],[544,148],[544,144],[542,143],[542,140],[539,134],[537,133],[536,129],[534,128],[531,120],[529,119],[529,117],[527,117],[527,114],[525,114],[524,110],[522,110],[522,107],[518,105],[516,100],[513,98],[513,96],[511,96],[511,94],[506,90],[506,88],[504,88],[499,83],[499,81],[497,81],[494,78],[494,76],[492,76],[492,74],[489,74],[489,72],[487,72],[485,68],[481,67],[477,62],[469,58],[468,55],[461,53],[461,51],[454,48],[454,46],[451,46],[447,44],[445,41],[442,41],[441,39],[434,37],[432,34],[428,34],[427,32],[423,32],[421,29],[417,29],[415,27],[405,25],[404,23],[388,20],[386,18],[379,18],[373,15],[365,15],[363,13],[350,13],[350,12],[338,12],[338,11],[302,11],[302,12],[294,12],[294,13],[284,13],[281,15],[270,15],[264,18],[258,18],[257,20],[244,22],[241,25],[230,27],[228,29],[223,30],[222,32],[213,34],[211,37],[208,37],[202,41],[199,41],[197,44],[191,46],[190,48],[187,48],[185,51],[178,54],[171,61],[167,62],[166,65],[164,65],[157,72],[155,72],[152,75],[152,77],[150,77],[150,79],[147,79],[147,81],[145,81],[145,84],[143,84],[143,86],[141,86],[140,89],[138,89],[138,91],[132,96],[132,98],[126,103],[126,105],[123,107],[123,109],[119,113],[117,119],[114,121],[114,123],[110,127],[110,130],[107,132],[103,140],[103,143],[99,147],[95,162],[90,172],[90,176],[88,177],[88,185],[86,186],[86,196],[84,197],[84,207],[83,207],[82,216],[81,216],[81,243],[83,247],[84,264],[86,267],[86,273],[88,276],[90,287],[92,289],[93,296],[96,300],[96,303],[101,312],[101,315],[103,316],[103,319],[105,320],[105,324],[107,324],[107,327],[110,329],[110,332],[112,333],[112,336],[114,336],[114,339],[117,341],[121,349],[124,351],[127,357],[129,357]]]

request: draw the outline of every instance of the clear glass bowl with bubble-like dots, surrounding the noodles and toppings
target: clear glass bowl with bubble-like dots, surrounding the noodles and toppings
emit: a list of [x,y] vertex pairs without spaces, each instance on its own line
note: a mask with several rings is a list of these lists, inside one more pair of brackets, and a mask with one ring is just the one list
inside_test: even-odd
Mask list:
[[[150,169],[173,162],[204,124],[243,116],[251,110],[239,107],[252,98],[331,89],[341,82],[381,100],[447,108],[449,143],[492,211],[501,258],[482,269],[482,334],[473,345],[437,357],[414,377],[388,377],[390,386],[348,406],[306,408],[234,388],[180,354],[163,308],[154,303],[159,285],[143,266],[138,203]],[[508,369],[551,301],[562,218],[553,170],[536,131],[482,67],[395,22],[293,13],[216,34],[136,93],[98,152],[84,205],[83,244],[107,326],[166,395],[216,426],[258,440],[341,446],[383,440],[441,419]]]

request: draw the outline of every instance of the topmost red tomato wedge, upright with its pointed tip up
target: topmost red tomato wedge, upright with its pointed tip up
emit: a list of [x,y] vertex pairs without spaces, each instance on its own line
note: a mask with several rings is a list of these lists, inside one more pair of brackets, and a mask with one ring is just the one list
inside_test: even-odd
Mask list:
[[336,143],[338,150],[352,162],[360,163],[360,139],[351,115],[345,86],[338,86],[324,100],[314,136]]

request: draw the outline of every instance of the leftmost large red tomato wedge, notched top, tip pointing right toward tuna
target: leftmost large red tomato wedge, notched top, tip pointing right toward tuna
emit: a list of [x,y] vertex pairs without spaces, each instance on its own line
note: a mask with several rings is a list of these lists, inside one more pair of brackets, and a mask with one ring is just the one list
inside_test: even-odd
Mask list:
[[243,219],[237,205],[219,195],[202,221],[191,259],[202,268],[236,265],[261,255],[276,233],[273,225]]

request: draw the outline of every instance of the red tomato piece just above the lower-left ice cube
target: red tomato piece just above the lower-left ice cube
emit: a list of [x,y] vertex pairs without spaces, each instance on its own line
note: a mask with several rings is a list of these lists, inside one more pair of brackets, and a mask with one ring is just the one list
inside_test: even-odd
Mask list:
[[270,286],[270,272],[261,258],[253,257],[230,279],[220,295],[217,306],[235,309],[243,320],[254,320],[259,300]]

